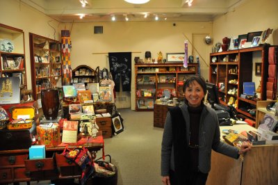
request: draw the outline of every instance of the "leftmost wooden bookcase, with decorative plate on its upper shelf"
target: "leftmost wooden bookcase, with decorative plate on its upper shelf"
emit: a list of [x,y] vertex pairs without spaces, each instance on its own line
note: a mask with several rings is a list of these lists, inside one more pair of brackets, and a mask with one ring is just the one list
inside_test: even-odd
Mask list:
[[0,75],[20,77],[21,84],[27,86],[24,32],[11,26],[0,24]]

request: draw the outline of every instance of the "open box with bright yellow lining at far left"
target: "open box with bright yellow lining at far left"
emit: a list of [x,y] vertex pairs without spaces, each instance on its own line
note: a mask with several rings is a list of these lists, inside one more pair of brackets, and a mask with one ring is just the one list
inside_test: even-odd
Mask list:
[[35,118],[33,106],[20,106],[11,108],[13,120],[8,123],[8,129],[31,129]]

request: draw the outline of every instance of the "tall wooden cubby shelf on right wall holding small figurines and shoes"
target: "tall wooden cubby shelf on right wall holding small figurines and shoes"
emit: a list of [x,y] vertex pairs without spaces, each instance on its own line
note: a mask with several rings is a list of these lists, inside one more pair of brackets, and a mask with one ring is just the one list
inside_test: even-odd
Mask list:
[[[261,83],[261,89],[256,93],[260,100],[266,98],[266,78],[268,73],[268,47],[252,47],[232,51],[213,53],[210,55],[210,82],[218,86],[218,95],[222,104],[236,106],[240,117],[251,118],[250,110],[256,109],[254,99],[240,97],[243,94],[243,83]],[[261,63],[261,74],[254,72],[254,63]]]

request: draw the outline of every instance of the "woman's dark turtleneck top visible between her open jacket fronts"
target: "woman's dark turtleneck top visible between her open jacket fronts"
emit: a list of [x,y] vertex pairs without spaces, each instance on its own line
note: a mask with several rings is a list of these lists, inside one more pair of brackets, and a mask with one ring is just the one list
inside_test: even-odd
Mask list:
[[[190,135],[189,141],[192,145],[199,145],[199,122],[201,113],[204,108],[202,103],[200,106],[192,107],[188,105],[188,112],[190,115]],[[190,170],[199,171],[199,148],[189,147],[190,152]]]

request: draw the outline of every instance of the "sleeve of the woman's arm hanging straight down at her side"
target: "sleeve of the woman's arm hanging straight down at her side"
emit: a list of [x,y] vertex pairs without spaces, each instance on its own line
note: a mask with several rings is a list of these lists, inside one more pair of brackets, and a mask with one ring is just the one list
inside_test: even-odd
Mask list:
[[170,159],[172,151],[172,120],[168,112],[164,125],[164,132],[161,144],[161,176],[169,176]]

